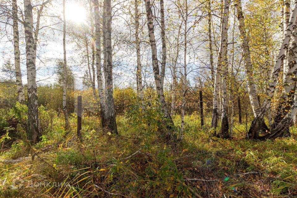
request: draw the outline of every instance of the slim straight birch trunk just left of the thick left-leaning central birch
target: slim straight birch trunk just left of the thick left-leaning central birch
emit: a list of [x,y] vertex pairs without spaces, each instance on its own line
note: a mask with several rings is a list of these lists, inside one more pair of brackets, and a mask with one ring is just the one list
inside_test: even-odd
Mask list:
[[139,15],[138,15],[138,0],[135,0],[135,40],[136,40],[136,56],[137,56],[137,71],[136,78],[138,80],[137,87],[139,92],[139,99],[141,106],[144,106],[143,100],[143,88],[142,88],[142,70],[141,70],[141,61],[140,61],[140,43],[139,43]]

